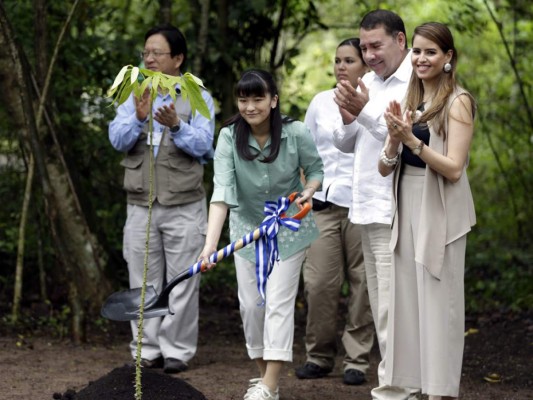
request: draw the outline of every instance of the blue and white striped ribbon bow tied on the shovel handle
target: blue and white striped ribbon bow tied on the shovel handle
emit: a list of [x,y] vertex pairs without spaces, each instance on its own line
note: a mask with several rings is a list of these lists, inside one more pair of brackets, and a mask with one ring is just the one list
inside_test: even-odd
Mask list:
[[265,304],[267,278],[274,268],[274,263],[279,261],[277,235],[280,225],[295,232],[300,228],[301,221],[299,219],[283,217],[290,204],[290,200],[283,196],[278,198],[277,203],[274,201],[265,202],[263,214],[266,215],[266,218],[259,226],[261,237],[255,242],[255,274],[257,290],[263,299],[261,305]]

